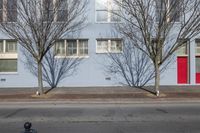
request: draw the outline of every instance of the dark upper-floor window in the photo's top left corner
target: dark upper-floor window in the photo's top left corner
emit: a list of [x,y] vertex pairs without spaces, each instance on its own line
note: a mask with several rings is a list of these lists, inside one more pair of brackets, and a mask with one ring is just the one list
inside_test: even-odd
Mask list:
[[17,21],[17,0],[0,0],[0,22]]

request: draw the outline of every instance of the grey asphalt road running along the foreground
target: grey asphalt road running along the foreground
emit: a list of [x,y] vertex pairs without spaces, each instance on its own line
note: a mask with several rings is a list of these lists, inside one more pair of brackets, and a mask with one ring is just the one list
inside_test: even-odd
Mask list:
[[200,103],[0,105],[0,133],[199,133]]

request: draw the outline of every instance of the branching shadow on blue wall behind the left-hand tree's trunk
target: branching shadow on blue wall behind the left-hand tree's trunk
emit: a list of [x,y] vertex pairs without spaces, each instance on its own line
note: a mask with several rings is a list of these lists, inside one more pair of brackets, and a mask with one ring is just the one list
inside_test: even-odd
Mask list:
[[[25,67],[35,77],[38,77],[37,62],[34,60],[32,55],[25,50],[23,50],[23,55],[25,57],[25,60],[23,61]],[[83,58],[80,57],[59,57],[53,49],[49,50],[42,61],[43,81],[51,87],[47,92],[57,87],[63,79],[72,76],[77,71],[82,60]]]

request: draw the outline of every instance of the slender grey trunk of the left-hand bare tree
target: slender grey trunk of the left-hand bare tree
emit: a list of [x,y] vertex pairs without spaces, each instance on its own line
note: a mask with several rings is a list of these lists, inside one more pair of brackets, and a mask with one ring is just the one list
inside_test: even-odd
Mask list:
[[43,82],[42,82],[42,63],[38,62],[38,91],[39,94],[43,94]]

